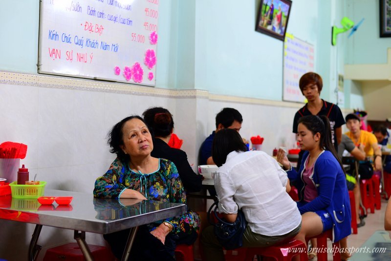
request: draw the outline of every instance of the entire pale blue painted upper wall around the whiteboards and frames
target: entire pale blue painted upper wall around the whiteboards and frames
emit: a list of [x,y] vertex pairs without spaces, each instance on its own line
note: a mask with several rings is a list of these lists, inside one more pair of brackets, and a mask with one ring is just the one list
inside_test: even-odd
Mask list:
[[[37,73],[39,1],[0,6],[0,69]],[[156,87],[281,101],[283,43],[255,31],[259,6],[260,0],[160,1]],[[287,32],[314,45],[322,98],[336,101],[344,63],[385,62],[391,38],[378,37],[378,13],[375,0],[293,0]],[[337,50],[330,28],[345,15],[366,20],[352,38],[339,36]],[[349,87],[345,94],[349,108]]]

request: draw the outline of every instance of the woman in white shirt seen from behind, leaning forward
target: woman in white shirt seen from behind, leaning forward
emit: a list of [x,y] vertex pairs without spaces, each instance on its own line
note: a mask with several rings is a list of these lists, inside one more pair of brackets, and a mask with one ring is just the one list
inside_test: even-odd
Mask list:
[[[234,222],[240,209],[248,222],[243,247],[271,246],[299,233],[302,218],[287,194],[288,177],[274,158],[247,152],[239,133],[231,129],[216,133],[212,157],[219,166],[214,175],[219,212]],[[204,229],[201,243],[207,261],[224,260],[213,226]]]

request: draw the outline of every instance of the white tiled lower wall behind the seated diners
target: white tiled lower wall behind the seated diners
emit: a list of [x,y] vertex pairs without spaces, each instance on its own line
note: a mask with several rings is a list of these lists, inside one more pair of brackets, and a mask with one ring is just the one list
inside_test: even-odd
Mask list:
[[[27,144],[27,156],[21,164],[29,169],[30,178],[38,174],[38,180],[46,181],[46,188],[87,193],[92,193],[96,177],[104,174],[114,159],[107,145],[110,128],[152,106],[165,107],[174,114],[174,132],[184,140],[182,149],[194,169],[199,146],[216,129],[215,116],[223,107],[241,112],[243,137],[265,137],[265,152],[271,154],[276,146],[293,145],[292,119],[299,105],[279,107],[278,103],[181,95],[186,90],[174,95],[154,95],[153,91],[134,95],[0,81],[0,142]],[[25,259],[34,225],[0,220],[0,227],[0,258]],[[19,243],[10,244],[12,241]],[[47,248],[70,241],[72,231],[43,227],[39,244],[44,248],[39,260]],[[87,233],[87,242],[105,244],[101,235],[91,233]]]

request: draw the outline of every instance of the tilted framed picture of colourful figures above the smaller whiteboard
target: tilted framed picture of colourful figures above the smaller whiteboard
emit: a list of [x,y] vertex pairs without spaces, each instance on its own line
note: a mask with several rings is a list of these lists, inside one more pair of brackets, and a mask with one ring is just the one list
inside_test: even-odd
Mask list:
[[291,0],[261,0],[255,30],[283,41],[291,6]]

